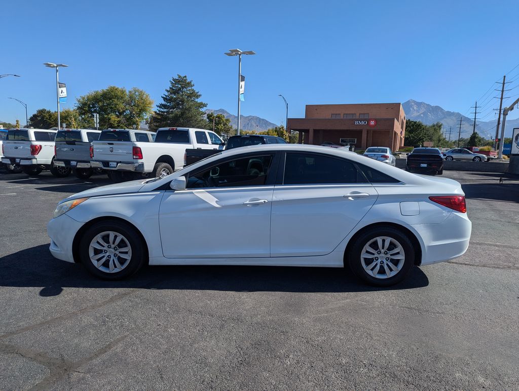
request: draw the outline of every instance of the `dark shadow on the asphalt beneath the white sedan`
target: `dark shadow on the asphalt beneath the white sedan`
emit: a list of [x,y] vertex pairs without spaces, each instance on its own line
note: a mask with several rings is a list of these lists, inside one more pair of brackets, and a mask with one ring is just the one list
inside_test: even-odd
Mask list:
[[41,287],[40,296],[56,296],[64,288],[370,292],[429,285],[429,279],[418,267],[413,267],[403,282],[388,288],[364,285],[348,269],[328,267],[147,266],[129,279],[103,281],[91,276],[83,265],[53,258],[48,245],[0,258],[0,270],[0,286]]

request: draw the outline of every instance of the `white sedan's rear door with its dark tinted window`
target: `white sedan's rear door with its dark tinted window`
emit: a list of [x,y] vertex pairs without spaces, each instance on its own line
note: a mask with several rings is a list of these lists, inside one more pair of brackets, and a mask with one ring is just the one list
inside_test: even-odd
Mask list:
[[287,152],[272,197],[270,256],[332,252],[376,199],[373,185],[348,159]]

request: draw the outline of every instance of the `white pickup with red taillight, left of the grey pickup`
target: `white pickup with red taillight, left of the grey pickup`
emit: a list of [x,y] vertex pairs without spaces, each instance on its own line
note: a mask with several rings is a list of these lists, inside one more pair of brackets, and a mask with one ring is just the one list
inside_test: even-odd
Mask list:
[[28,175],[50,170],[54,177],[66,177],[70,168],[54,165],[56,130],[9,129],[3,142],[2,163],[17,165]]

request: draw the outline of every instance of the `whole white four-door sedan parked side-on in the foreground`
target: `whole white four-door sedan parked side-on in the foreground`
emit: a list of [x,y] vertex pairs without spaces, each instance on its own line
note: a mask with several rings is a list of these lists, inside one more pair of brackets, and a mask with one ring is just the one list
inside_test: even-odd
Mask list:
[[145,265],[349,267],[389,286],[414,265],[459,257],[471,222],[458,182],[340,149],[255,145],[165,178],[62,200],[54,257],[121,279]]

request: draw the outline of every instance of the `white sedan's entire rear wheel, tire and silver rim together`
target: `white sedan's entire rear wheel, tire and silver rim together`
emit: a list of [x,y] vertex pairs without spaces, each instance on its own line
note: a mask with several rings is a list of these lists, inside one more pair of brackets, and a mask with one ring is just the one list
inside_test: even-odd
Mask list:
[[373,227],[356,238],[348,254],[354,275],[370,285],[398,284],[414,265],[411,240],[393,227]]

